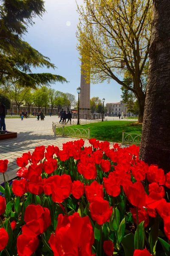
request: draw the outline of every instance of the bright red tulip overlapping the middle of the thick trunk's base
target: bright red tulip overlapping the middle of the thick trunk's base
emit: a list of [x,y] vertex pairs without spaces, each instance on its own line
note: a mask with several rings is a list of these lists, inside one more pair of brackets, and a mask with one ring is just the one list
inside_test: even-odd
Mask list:
[[158,169],[157,165],[150,165],[147,173],[147,180],[152,183],[156,182],[159,185],[164,185],[165,175],[162,169]]

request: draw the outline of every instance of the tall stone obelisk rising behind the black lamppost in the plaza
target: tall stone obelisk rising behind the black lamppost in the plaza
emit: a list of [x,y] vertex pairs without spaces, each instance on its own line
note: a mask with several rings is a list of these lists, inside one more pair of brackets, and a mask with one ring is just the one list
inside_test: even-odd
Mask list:
[[90,119],[90,83],[86,83],[85,75],[81,74],[80,82],[80,103],[79,103],[79,116],[80,119]]

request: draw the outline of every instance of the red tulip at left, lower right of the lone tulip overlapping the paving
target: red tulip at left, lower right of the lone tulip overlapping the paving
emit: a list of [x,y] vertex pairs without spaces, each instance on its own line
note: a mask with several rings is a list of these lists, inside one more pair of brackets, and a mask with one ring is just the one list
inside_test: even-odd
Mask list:
[[12,183],[12,192],[17,196],[22,196],[27,192],[27,180],[14,180]]

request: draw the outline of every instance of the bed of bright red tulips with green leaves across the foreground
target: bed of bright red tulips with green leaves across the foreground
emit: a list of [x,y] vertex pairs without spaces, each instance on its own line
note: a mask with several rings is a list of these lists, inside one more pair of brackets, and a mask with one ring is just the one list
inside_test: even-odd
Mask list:
[[0,256],[170,255],[170,173],[138,146],[89,143],[17,158],[18,179],[0,186]]

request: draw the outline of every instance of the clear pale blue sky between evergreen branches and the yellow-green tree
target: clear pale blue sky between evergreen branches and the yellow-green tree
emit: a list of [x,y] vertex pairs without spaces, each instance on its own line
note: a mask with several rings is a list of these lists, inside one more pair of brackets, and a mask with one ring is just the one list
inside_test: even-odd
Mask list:
[[[77,0],[82,4],[82,0]],[[43,55],[49,57],[57,67],[56,70],[38,69],[34,72],[49,72],[64,76],[68,84],[51,85],[56,90],[69,92],[77,97],[77,87],[80,86],[80,61],[76,49],[76,30],[79,22],[75,0],[46,0],[46,13],[34,19],[34,26],[28,29],[25,40]],[[66,23],[67,22],[67,26]],[[105,98],[105,102],[118,102],[121,98],[120,85],[115,81],[110,84],[91,84],[91,97]]]

